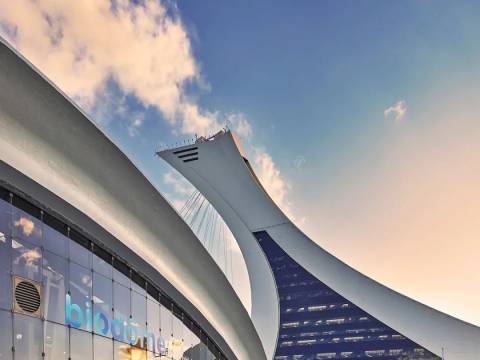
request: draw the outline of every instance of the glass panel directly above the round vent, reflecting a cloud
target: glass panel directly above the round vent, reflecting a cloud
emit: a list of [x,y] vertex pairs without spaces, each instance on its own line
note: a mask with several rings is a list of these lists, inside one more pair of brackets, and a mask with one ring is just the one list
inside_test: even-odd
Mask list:
[[25,278],[42,281],[42,251],[39,246],[12,239],[12,271]]

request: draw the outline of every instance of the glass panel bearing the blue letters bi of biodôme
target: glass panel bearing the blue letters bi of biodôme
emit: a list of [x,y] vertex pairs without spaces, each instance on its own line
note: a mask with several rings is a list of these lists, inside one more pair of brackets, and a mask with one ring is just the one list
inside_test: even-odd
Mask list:
[[66,317],[73,327],[91,331],[92,271],[70,262],[69,273],[71,306],[66,306]]

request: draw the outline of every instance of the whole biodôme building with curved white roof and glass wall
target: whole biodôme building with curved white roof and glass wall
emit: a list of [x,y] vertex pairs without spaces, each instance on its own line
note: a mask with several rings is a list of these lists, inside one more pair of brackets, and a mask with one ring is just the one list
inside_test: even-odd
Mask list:
[[185,222],[3,41],[0,324],[2,360],[266,359]]

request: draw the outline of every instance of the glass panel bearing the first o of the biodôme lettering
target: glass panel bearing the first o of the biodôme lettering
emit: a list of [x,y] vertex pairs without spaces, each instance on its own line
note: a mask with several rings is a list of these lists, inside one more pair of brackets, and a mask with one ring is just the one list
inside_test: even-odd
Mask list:
[[[93,329],[97,334],[111,337],[109,330],[112,319],[112,280],[93,273]],[[105,319],[102,320],[103,314]],[[112,352],[112,351],[111,351]]]

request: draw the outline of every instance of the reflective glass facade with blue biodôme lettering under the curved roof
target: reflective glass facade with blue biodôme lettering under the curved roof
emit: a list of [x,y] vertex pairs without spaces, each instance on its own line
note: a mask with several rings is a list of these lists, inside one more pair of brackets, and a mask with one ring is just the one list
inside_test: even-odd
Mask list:
[[[19,311],[14,279],[40,286],[40,315]],[[0,324],[1,360],[226,359],[161,289],[3,188]]]

